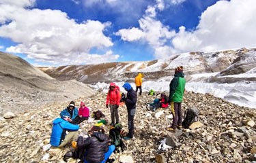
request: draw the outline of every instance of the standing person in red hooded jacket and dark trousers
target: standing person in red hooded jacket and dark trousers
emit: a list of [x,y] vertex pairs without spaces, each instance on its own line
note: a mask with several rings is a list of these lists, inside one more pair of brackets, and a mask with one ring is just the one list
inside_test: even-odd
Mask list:
[[119,87],[115,83],[111,83],[109,86],[109,92],[106,95],[106,108],[111,112],[111,126],[119,123],[118,107],[120,103]]

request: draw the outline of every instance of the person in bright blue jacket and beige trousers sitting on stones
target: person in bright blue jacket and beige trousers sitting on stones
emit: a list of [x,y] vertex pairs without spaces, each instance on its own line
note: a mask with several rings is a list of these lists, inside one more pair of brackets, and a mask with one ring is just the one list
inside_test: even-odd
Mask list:
[[[53,120],[50,143],[53,147],[63,147],[71,141],[76,141],[78,137],[79,125],[70,124],[68,117]],[[66,134],[68,132],[68,134]]]

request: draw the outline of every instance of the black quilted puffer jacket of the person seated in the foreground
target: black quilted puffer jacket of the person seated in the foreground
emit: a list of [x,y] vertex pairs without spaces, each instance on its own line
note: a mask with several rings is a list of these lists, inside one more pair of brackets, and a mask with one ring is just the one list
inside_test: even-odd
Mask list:
[[108,136],[102,132],[94,132],[91,137],[83,141],[83,137],[77,140],[78,148],[85,148],[87,154],[85,160],[90,163],[98,163],[104,160],[104,153],[109,150]]

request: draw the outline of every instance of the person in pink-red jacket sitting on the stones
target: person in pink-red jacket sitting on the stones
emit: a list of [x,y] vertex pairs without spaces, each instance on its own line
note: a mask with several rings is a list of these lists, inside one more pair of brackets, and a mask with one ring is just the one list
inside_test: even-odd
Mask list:
[[79,115],[72,120],[72,124],[80,124],[84,120],[88,120],[89,117],[89,108],[85,107],[85,103],[83,101],[80,103],[80,108],[79,108]]

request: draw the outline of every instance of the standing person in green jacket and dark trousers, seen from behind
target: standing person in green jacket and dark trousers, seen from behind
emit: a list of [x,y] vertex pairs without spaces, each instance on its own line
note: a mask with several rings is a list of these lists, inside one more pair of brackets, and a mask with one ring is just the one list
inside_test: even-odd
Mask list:
[[183,67],[176,67],[174,78],[170,83],[169,103],[171,104],[171,113],[173,114],[173,123],[171,127],[166,128],[169,131],[175,131],[176,128],[182,128],[182,101],[185,92],[186,80],[184,79]]

